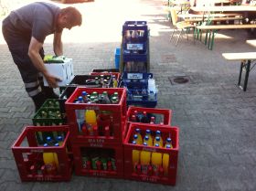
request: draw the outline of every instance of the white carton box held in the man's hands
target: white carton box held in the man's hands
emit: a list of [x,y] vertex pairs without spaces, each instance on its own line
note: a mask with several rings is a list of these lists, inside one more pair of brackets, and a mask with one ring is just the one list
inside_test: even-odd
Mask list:
[[[64,63],[45,63],[45,66],[51,75],[54,75],[61,79],[61,81],[58,82],[58,85],[60,87],[66,86],[66,84],[68,84],[74,78],[72,58],[66,58],[64,60]],[[48,86],[48,81],[46,80],[46,78],[43,77],[43,79],[44,85]]]

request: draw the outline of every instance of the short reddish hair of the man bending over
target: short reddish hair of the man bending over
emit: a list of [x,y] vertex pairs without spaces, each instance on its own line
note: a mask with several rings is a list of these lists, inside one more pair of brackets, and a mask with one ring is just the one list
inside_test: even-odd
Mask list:
[[69,23],[73,26],[80,26],[82,22],[81,14],[75,7],[69,6],[60,10],[60,15],[67,16]]

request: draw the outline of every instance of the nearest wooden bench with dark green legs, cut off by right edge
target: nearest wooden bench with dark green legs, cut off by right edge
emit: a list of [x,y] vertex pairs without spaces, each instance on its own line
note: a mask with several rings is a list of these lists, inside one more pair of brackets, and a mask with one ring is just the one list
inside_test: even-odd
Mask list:
[[[251,67],[251,62],[253,60],[256,60],[256,52],[222,53],[222,56],[229,61],[240,60],[240,76],[239,76],[238,85],[242,90],[246,91],[250,71],[255,66],[255,63],[254,63],[253,66]],[[244,77],[243,86],[241,86],[240,80],[241,80],[243,69],[245,69],[245,77]]]

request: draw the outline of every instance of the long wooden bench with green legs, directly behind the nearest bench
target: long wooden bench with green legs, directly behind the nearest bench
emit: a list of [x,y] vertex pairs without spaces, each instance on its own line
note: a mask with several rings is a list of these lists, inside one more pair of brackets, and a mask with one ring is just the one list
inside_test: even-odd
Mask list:
[[[249,25],[210,25],[210,26],[196,26],[197,30],[207,30],[205,45],[208,42],[208,49],[213,48],[214,37],[220,29],[245,29],[245,28],[256,28],[256,24]],[[209,35],[208,35],[209,33]]]

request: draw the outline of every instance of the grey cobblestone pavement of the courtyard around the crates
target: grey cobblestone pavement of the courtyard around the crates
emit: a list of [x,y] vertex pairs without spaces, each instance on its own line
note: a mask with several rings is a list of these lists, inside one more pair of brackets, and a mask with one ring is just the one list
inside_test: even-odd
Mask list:
[[[28,1],[24,1],[26,4]],[[58,2],[52,2],[59,4]],[[61,4],[59,4],[61,5]],[[169,42],[171,29],[161,0],[95,0],[75,4],[83,26],[65,31],[65,55],[74,60],[76,74],[114,67],[114,50],[121,44],[125,20],[146,20],[150,31],[151,72],[158,85],[157,108],[173,110],[180,128],[176,186],[123,179],[72,175],[68,183],[21,183],[10,149],[34,114],[8,48],[0,38],[0,190],[256,190],[256,80],[255,70],[246,92],[240,90],[240,63],[228,62],[222,52],[255,51],[246,44],[244,30],[223,30],[208,50],[192,38],[177,47]],[[64,5],[61,5],[64,6]],[[45,49],[53,54],[51,37]],[[169,79],[187,76],[172,85]]]

